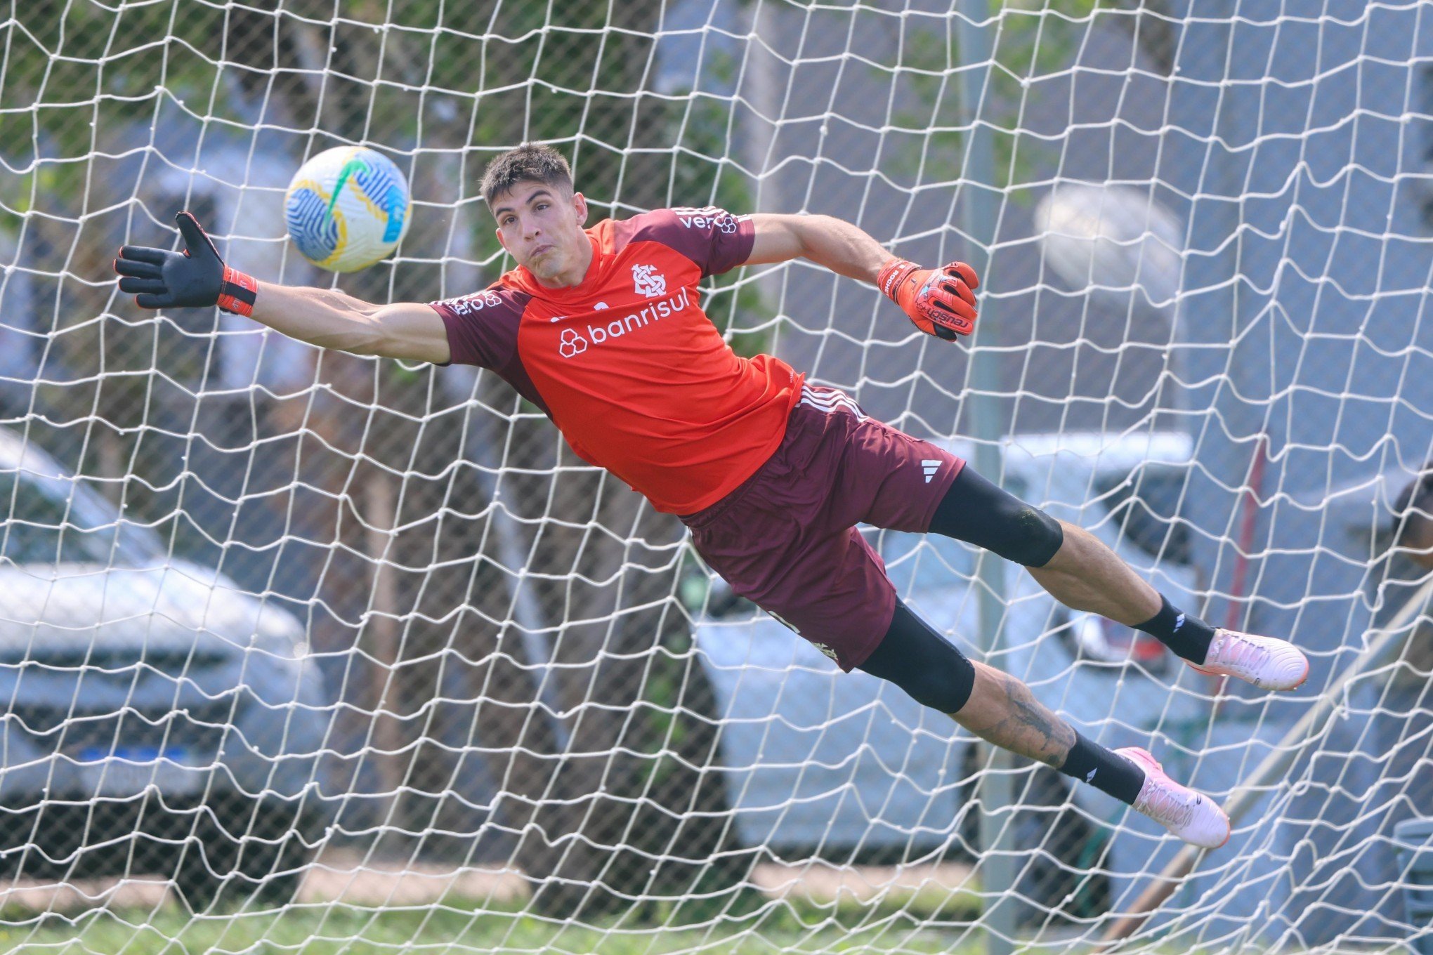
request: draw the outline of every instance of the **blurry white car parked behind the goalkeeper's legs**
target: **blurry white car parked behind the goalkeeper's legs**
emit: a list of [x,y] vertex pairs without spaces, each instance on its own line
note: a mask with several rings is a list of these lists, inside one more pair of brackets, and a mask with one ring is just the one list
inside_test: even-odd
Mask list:
[[[947,447],[967,460],[973,448]],[[1195,607],[1188,528],[1176,518],[1192,441],[1178,432],[1023,434],[1003,442],[1003,484],[1058,518],[1089,528],[1178,606]],[[984,659],[979,551],[937,535],[870,533],[901,598]],[[993,558],[992,560],[999,560]],[[1158,640],[1058,604],[1020,568],[999,561],[1005,586],[995,666],[1106,746],[1151,743],[1156,727],[1194,732],[1207,717],[1198,674]],[[701,593],[701,588],[695,588]],[[738,833],[785,852],[887,848],[906,858],[960,840],[976,849],[976,813],[962,812],[979,769],[969,735],[894,686],[825,656],[719,580],[694,630],[715,687],[721,756]],[[1068,809],[1073,796],[1083,812]],[[1111,849],[1099,819],[1123,806],[1039,767],[1020,795],[1017,840],[1043,846],[1022,885],[1027,898],[1065,899],[1072,879]],[[1048,810],[1066,806],[1063,813]],[[1059,820],[1059,822],[1056,822]],[[1049,833],[1060,838],[1050,839]],[[1148,843],[1115,846],[1148,855]],[[1056,862],[1058,861],[1058,862]],[[1060,872],[1055,872],[1059,869]]]

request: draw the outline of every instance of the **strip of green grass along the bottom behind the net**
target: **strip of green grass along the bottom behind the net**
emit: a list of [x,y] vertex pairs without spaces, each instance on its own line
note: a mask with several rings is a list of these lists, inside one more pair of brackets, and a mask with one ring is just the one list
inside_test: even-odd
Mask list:
[[[931,908],[934,905],[934,908]],[[0,913],[0,952],[26,955],[393,955],[394,952],[552,952],[553,955],[663,955],[668,952],[949,952],[977,955],[983,938],[960,922],[974,913],[959,896],[920,893],[881,905],[771,902],[761,911],[694,928],[619,924],[572,925],[520,909],[473,903],[413,908],[298,905],[282,912],[191,916],[158,909],[90,909],[75,915]],[[931,928],[931,922],[943,928]]]

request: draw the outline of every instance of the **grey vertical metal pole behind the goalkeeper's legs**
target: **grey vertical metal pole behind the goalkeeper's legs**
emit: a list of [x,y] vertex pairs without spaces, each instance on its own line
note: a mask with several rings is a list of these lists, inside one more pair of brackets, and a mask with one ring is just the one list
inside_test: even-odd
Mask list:
[[[1000,215],[996,193],[995,153],[990,133],[977,127],[980,106],[990,82],[992,31],[986,0],[962,0],[957,17],[957,56],[964,64],[960,74],[962,120],[966,135],[966,175],[960,188],[960,228],[972,243],[972,258],[977,271],[986,275],[995,251],[995,231]],[[982,248],[983,246],[983,248]],[[977,255],[979,252],[984,255]],[[983,261],[982,261],[983,259]],[[980,268],[984,266],[984,268]],[[996,398],[999,369],[992,351],[995,329],[999,326],[997,302],[986,298],[980,304],[980,321],[970,351],[970,388],[966,405],[970,411],[970,437],[974,440],[972,464],[986,478],[1002,483],[1000,402]],[[980,554],[979,616],[980,647],[986,659],[1000,650],[1006,611],[1006,567],[995,554]],[[983,873],[980,889],[984,898],[982,921],[986,926],[987,955],[1009,955],[1015,951],[1017,896],[1015,883],[1019,865],[1015,846],[1015,756],[1009,750],[992,747],[984,775],[980,777],[980,861]]]

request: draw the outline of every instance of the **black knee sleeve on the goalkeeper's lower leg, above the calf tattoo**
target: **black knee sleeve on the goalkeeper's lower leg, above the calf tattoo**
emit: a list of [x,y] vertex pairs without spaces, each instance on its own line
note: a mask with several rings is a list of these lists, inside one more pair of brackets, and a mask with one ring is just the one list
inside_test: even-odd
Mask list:
[[976,686],[970,660],[898,600],[890,630],[857,669],[890,680],[941,713],[959,712]]

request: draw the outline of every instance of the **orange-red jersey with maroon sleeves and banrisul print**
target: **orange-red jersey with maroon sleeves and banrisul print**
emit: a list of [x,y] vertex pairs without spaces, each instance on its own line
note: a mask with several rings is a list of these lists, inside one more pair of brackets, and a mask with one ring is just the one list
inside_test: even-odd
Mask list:
[[751,220],[656,209],[588,238],[580,285],[545,288],[519,266],[433,302],[451,361],[496,371],[659,511],[694,514],[771,457],[801,397],[790,365],[741,358],[701,309],[698,282],[751,255]]

